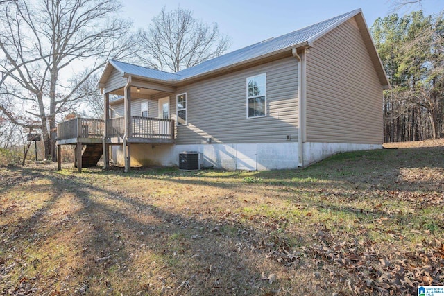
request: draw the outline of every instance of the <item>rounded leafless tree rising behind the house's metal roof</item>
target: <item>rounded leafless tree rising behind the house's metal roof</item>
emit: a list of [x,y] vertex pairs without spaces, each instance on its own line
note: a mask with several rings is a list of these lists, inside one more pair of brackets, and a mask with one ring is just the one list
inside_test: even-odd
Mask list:
[[162,8],[153,18],[148,31],[141,31],[139,58],[148,67],[162,71],[180,71],[217,57],[230,46],[226,35],[212,26],[194,19],[191,10]]

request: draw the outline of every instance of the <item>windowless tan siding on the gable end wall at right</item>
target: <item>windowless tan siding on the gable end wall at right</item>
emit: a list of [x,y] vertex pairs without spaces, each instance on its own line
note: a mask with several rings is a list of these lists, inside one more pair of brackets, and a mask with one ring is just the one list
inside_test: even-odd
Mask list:
[[307,141],[382,143],[382,86],[355,19],[307,54]]

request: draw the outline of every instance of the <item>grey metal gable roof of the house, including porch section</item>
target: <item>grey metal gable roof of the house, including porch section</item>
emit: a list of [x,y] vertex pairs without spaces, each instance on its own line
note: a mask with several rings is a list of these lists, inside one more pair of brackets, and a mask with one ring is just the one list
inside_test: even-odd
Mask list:
[[384,71],[384,67],[379,59],[379,55],[377,54],[375,45],[371,39],[370,31],[368,31],[366,21],[360,8],[344,13],[343,15],[321,21],[317,24],[301,28],[291,33],[287,33],[279,37],[272,37],[268,40],[246,46],[243,49],[225,53],[217,58],[212,58],[211,60],[201,62],[194,67],[189,67],[176,73],[167,73],[147,67],[136,66],[134,64],[119,62],[117,60],[110,60],[99,80],[99,85],[103,85],[108,79],[110,72],[112,71],[112,69],[108,69],[110,68],[110,65],[120,71],[122,76],[138,76],[148,80],[157,80],[157,82],[171,83],[191,80],[193,78],[205,76],[207,73],[214,73],[216,71],[235,67],[254,60],[260,60],[268,55],[282,53],[293,48],[312,46],[313,42],[318,40],[326,33],[332,31],[337,26],[343,24],[345,21],[348,21],[348,19],[351,19],[352,17],[357,17],[357,23],[359,25],[361,34],[363,35],[364,42],[366,42],[368,47],[370,58],[375,65],[375,69],[379,76],[379,81],[384,87],[389,87],[390,84]]

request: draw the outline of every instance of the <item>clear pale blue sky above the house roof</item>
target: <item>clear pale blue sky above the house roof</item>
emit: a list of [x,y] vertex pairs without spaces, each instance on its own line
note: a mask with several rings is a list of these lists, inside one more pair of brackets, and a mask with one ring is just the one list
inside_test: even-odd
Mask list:
[[[123,17],[133,20],[136,28],[145,28],[163,6],[180,6],[194,12],[194,17],[219,25],[219,31],[231,37],[228,51],[277,37],[299,28],[361,8],[370,28],[375,19],[394,12],[389,0],[126,0]],[[444,10],[444,0],[422,0],[421,4],[398,10],[399,15],[412,10],[431,15]]]

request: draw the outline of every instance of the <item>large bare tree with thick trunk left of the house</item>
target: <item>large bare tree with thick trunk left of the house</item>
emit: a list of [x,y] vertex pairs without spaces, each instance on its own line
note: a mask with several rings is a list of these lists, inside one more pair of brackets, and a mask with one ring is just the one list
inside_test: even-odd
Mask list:
[[56,119],[79,107],[81,86],[135,49],[117,0],[16,0],[0,6],[0,110],[42,130],[56,160]]

